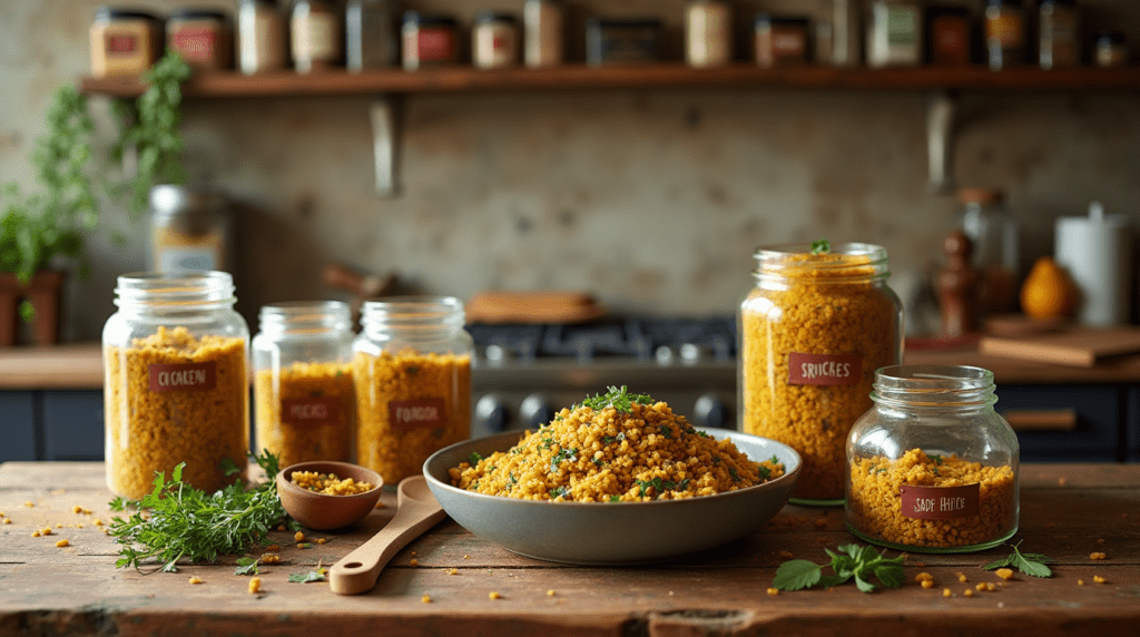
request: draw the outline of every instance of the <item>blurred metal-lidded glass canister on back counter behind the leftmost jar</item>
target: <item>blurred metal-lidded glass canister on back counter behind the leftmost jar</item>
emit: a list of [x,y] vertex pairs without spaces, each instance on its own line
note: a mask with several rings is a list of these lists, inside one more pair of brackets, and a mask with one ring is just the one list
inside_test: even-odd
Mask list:
[[221,195],[186,186],[150,188],[150,268],[179,273],[229,268],[230,219]]

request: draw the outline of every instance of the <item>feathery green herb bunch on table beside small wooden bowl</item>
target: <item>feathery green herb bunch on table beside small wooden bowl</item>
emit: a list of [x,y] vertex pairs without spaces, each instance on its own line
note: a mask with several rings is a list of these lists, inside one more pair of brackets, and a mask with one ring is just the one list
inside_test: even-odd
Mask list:
[[[130,517],[116,517],[111,523],[111,534],[122,545],[122,557],[115,566],[141,570],[145,563],[156,561],[160,565],[155,570],[176,572],[179,560],[212,562],[219,555],[269,544],[269,530],[286,518],[272,480],[278,459],[269,451],[254,459],[270,479],[249,491],[241,483],[214,493],[199,491],[182,482],[182,463],[174,467],[169,481],[165,474],[157,473],[154,490],[141,500],[112,500],[112,511],[137,508]],[[299,529],[292,520],[288,526]]]

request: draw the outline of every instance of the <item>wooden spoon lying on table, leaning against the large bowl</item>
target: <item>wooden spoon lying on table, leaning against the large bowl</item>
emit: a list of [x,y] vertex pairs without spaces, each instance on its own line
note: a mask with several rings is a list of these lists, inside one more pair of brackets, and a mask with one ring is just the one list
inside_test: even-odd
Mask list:
[[359,595],[376,586],[380,571],[414,538],[447,517],[422,475],[405,477],[396,489],[398,507],[386,526],[328,570],[337,595]]

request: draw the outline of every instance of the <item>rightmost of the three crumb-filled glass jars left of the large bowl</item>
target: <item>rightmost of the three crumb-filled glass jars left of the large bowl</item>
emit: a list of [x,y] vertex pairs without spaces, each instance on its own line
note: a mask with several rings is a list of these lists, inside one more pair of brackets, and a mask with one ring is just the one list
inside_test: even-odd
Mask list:
[[471,435],[471,354],[463,303],[450,296],[367,301],[352,344],[357,462],[385,484],[423,471]]

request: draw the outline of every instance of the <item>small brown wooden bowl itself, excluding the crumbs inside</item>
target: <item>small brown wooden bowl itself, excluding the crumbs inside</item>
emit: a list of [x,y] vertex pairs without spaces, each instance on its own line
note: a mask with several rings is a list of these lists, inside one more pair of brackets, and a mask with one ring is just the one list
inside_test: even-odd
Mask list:
[[[353,496],[327,496],[293,484],[293,472],[314,471],[334,473],[336,477],[351,477],[367,482],[373,489]],[[298,463],[283,468],[277,474],[277,495],[285,511],[302,526],[316,531],[327,531],[359,522],[376,508],[384,479],[378,473],[351,463],[316,460]]]

